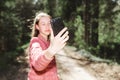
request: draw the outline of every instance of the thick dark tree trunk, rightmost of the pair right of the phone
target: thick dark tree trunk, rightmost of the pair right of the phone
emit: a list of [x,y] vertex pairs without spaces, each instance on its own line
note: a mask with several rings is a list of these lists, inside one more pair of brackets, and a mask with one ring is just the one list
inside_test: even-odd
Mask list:
[[99,1],[96,0],[92,0],[92,6],[91,8],[93,9],[92,10],[92,13],[91,13],[91,16],[92,16],[92,21],[91,21],[91,45],[93,47],[96,47],[98,45],[98,18],[99,18]]

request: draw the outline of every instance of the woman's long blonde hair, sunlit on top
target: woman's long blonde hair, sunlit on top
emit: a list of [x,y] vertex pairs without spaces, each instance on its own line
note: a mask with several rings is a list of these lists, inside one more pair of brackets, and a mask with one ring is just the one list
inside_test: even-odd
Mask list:
[[34,22],[33,22],[33,27],[32,27],[32,37],[37,37],[38,36],[38,34],[39,34],[39,31],[36,29],[36,24],[38,24],[39,23],[39,20],[41,19],[41,17],[50,17],[51,18],[51,16],[50,15],[48,15],[47,13],[45,13],[45,12],[38,12],[37,14],[36,14],[36,17],[35,17],[35,19],[34,19]]

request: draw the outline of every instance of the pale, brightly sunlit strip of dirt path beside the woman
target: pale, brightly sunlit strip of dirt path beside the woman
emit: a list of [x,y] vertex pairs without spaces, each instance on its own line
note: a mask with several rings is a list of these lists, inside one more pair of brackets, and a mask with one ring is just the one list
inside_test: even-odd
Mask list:
[[85,68],[79,66],[75,59],[68,56],[69,54],[64,49],[56,56],[60,80],[97,80]]

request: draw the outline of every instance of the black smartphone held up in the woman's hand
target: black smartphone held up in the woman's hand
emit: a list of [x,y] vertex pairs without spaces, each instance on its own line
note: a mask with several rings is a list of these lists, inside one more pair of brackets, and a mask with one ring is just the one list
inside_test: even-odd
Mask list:
[[54,36],[56,36],[65,27],[61,17],[51,19],[51,26],[54,32]]

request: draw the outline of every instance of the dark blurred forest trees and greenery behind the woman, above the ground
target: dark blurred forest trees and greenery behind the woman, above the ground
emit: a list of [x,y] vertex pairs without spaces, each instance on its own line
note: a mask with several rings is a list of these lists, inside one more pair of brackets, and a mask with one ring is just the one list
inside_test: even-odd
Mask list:
[[69,46],[120,64],[120,0],[0,0],[0,72],[24,54],[38,11],[63,18]]

